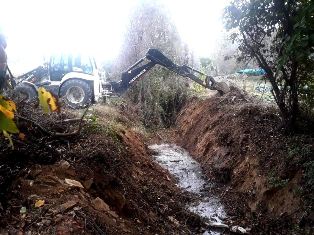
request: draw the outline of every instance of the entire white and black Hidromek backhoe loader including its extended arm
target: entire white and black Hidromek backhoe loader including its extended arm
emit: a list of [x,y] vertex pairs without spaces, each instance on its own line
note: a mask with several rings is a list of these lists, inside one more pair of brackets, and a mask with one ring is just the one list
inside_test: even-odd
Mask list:
[[[136,68],[145,59],[150,61]],[[52,53],[43,65],[18,76],[14,86],[26,102],[37,99],[38,87],[43,86],[47,91],[65,97],[70,106],[82,107],[89,102],[98,102],[100,98],[106,101],[106,97],[124,95],[130,86],[155,65],[162,65],[205,88],[217,90],[220,95],[228,92],[225,82],[216,82],[211,76],[187,64],[177,65],[156,49],[149,49],[142,59],[124,70],[122,79],[118,82],[106,79],[104,73],[98,70],[92,55],[62,52]],[[195,76],[193,72],[206,76],[205,81]]]

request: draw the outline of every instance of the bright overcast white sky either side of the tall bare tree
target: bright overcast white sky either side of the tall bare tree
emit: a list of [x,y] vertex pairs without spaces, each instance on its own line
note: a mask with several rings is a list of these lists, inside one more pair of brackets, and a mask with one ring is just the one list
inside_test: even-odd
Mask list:
[[[223,29],[227,0],[160,0],[170,9],[182,39],[199,56],[210,55]],[[114,58],[122,40],[130,8],[138,0],[2,1],[0,24],[8,35],[10,57],[41,61],[42,53],[59,48],[72,35],[73,47],[85,41],[100,60]]]

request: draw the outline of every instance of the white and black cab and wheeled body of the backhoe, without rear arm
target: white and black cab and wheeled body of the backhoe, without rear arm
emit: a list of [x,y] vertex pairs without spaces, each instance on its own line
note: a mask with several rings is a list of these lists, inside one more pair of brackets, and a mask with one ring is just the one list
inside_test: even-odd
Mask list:
[[44,65],[20,75],[18,79],[16,90],[25,95],[26,101],[37,97],[39,86],[65,97],[73,107],[97,102],[102,97],[96,61],[88,53],[54,52]]

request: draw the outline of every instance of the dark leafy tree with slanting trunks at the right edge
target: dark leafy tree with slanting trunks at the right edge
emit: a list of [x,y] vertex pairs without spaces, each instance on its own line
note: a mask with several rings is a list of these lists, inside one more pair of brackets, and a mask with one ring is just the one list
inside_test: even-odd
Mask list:
[[314,1],[235,0],[225,8],[225,19],[227,29],[240,32],[232,36],[239,43],[238,60],[255,60],[265,70],[285,134],[295,133],[300,96],[313,92]]

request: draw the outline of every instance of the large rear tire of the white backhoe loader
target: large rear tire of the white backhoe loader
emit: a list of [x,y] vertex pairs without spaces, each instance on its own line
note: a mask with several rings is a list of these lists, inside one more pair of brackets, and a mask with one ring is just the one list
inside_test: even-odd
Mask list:
[[60,95],[70,106],[84,107],[92,98],[92,89],[85,81],[71,79],[61,86]]

